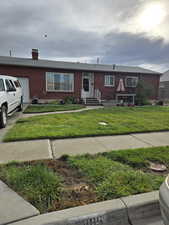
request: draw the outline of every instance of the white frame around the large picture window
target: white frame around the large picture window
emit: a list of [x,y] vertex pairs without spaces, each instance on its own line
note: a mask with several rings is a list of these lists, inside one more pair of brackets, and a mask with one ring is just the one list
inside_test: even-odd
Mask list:
[[[47,84],[47,76],[48,75],[73,75],[73,82],[72,82],[72,90],[55,90],[54,89],[54,76],[52,77],[52,83],[53,83],[53,90],[48,90],[48,84]],[[75,83],[75,79],[74,79],[74,73],[60,73],[60,72],[46,72],[46,92],[67,92],[67,93],[73,93],[74,92],[74,83]]]

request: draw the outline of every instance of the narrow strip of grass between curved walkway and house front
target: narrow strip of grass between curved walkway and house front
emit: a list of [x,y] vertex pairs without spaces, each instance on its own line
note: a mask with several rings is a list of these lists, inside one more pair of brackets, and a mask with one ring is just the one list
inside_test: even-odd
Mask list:
[[66,104],[66,105],[29,105],[24,113],[45,113],[45,112],[58,112],[58,111],[69,111],[69,110],[78,110],[84,108],[83,105],[77,104]]

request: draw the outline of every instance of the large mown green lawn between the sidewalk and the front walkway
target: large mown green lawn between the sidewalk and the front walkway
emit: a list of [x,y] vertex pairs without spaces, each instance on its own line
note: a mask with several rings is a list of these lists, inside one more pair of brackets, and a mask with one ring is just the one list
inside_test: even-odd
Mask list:
[[[107,125],[99,124],[105,122]],[[20,119],[4,141],[169,130],[169,107],[113,107]]]

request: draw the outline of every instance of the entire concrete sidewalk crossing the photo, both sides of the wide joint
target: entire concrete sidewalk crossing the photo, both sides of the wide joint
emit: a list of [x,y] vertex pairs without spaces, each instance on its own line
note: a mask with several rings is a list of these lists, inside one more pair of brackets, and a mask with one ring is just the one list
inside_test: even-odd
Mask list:
[[0,163],[60,158],[62,155],[96,154],[112,150],[169,146],[169,131],[144,134],[35,140],[0,144]]

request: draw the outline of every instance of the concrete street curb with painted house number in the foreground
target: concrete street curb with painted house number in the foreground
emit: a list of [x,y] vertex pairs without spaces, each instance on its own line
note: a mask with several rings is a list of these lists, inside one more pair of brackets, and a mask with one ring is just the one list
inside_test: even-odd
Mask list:
[[13,225],[162,225],[158,191],[79,206]]

